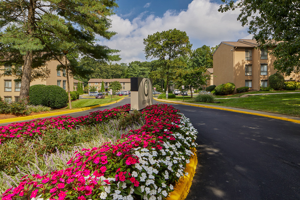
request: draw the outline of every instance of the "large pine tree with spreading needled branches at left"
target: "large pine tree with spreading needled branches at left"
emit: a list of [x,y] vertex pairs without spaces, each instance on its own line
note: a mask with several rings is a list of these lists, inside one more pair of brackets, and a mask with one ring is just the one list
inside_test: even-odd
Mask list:
[[56,59],[62,50],[96,60],[118,60],[117,50],[98,45],[96,34],[110,39],[110,16],[115,0],[6,0],[0,1],[0,55],[22,63],[20,99],[29,95],[32,69]]

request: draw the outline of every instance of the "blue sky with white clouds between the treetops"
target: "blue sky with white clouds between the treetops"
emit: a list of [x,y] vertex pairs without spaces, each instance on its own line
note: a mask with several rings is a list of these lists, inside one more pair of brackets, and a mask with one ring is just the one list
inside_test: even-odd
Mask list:
[[222,41],[251,39],[247,27],[236,20],[239,11],[218,12],[219,0],[117,0],[115,15],[110,16],[110,31],[117,34],[110,40],[102,37],[99,44],[119,52],[121,61],[146,60],[143,39],[149,34],[178,29],[185,31],[193,44],[216,46]]

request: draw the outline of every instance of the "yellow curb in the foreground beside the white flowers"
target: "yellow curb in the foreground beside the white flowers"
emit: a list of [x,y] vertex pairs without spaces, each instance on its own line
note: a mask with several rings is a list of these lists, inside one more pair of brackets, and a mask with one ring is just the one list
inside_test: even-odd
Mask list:
[[187,176],[180,178],[179,183],[174,187],[174,191],[170,193],[167,200],[182,200],[187,197],[192,185],[192,180],[196,172],[197,166],[197,154],[196,151],[193,156],[190,157],[190,163],[186,165],[185,172],[188,172]]

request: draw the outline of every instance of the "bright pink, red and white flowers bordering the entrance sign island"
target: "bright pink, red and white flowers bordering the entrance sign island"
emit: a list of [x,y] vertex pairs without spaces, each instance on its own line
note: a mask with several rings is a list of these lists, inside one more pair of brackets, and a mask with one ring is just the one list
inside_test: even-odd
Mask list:
[[[80,118],[51,118],[10,124],[1,142],[18,135],[33,137],[28,127],[73,128],[76,124],[95,124],[128,111],[130,105],[93,112]],[[112,144],[82,149],[69,160],[69,168],[44,176],[23,177],[16,188],[1,195],[2,199],[164,199],[173,185],[184,176],[184,168],[193,154],[196,130],[178,110],[167,105],[152,105],[142,111],[146,124]],[[55,121],[56,120],[56,121]],[[76,121],[78,120],[78,121]],[[40,126],[41,125],[41,126]],[[26,128],[27,127],[27,128]],[[42,129],[43,130],[43,129]],[[34,133],[30,135],[30,133]],[[12,136],[12,137],[10,137]]]

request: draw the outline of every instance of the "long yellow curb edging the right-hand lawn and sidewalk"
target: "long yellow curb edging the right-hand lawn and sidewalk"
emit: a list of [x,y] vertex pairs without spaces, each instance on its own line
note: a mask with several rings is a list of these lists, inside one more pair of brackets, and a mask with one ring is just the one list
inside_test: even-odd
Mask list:
[[175,104],[181,104],[181,105],[186,105],[186,106],[196,106],[196,107],[202,107],[202,108],[211,108],[211,109],[226,110],[226,111],[231,111],[231,112],[239,112],[239,113],[244,113],[244,114],[273,118],[273,119],[280,119],[280,120],[284,120],[284,121],[291,121],[291,122],[300,124],[300,120],[289,119],[289,118],[284,118],[284,117],[277,117],[277,116],[272,116],[272,115],[265,115],[265,114],[255,113],[255,112],[233,110],[233,109],[228,109],[228,108],[219,108],[219,107],[214,107],[214,106],[195,105],[195,104],[190,104],[190,103],[182,103],[182,102],[174,102],[174,101],[170,102],[170,101],[164,101],[164,100],[158,100],[158,99],[155,99],[155,100],[164,102],[164,103],[175,103]]

